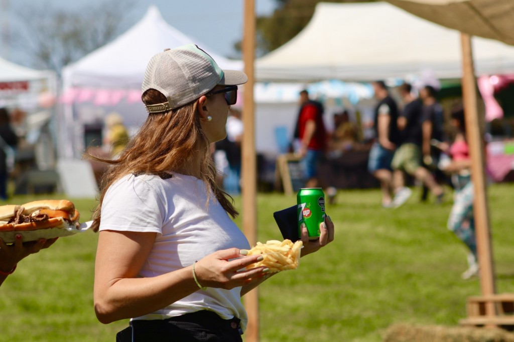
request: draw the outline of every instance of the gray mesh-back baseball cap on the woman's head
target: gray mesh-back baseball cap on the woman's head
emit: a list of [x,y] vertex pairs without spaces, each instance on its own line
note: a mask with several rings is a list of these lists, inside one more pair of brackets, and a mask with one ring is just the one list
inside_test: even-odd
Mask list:
[[168,102],[146,106],[149,113],[159,113],[193,102],[216,85],[235,86],[247,81],[244,72],[222,70],[207,52],[188,44],[164,49],[150,59],[142,91],[155,89],[166,96]]

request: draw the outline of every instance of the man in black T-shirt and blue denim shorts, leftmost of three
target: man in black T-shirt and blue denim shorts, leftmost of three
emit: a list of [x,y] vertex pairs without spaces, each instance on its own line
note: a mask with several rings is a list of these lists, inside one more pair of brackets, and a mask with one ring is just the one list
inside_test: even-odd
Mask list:
[[368,170],[379,180],[382,190],[382,207],[393,207],[393,176],[391,161],[399,142],[398,107],[390,96],[383,81],[372,83],[378,104],[375,108],[374,124],[375,142],[370,150]]

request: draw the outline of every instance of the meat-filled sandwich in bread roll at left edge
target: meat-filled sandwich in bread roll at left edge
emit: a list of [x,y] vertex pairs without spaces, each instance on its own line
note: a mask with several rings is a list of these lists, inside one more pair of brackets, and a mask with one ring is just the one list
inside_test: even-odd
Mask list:
[[44,199],[0,207],[0,231],[79,228],[80,214],[66,199]]

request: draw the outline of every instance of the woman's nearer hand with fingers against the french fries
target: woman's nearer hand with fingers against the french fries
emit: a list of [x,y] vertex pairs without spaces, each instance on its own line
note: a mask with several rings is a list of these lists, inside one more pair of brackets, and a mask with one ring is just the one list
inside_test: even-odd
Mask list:
[[261,261],[261,255],[245,256],[247,251],[237,248],[221,250],[201,258],[195,265],[196,278],[201,286],[226,290],[244,286],[266,275],[266,267],[249,270],[246,266]]

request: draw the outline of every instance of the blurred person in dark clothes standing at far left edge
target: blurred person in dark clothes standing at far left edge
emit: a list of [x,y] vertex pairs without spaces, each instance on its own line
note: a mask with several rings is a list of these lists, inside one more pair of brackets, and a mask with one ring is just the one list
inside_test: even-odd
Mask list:
[[[14,151],[17,144],[18,137],[11,127],[9,112],[5,108],[0,108],[0,199],[2,200],[7,199],[8,154]],[[14,160],[10,162],[13,163]]]

